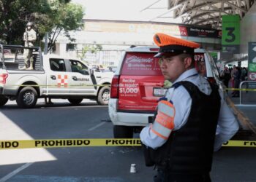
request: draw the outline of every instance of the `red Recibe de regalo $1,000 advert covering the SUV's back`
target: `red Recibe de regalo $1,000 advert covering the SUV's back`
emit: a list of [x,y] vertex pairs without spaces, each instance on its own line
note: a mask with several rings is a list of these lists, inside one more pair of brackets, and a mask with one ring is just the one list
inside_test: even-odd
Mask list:
[[127,53],[119,79],[118,109],[154,111],[164,82],[158,61],[152,52]]

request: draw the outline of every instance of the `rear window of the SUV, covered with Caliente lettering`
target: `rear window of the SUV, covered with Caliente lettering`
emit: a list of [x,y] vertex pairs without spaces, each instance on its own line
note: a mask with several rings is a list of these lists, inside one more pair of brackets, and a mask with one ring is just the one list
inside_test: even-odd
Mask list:
[[128,52],[125,55],[121,75],[159,76],[159,58],[154,58],[156,52]]

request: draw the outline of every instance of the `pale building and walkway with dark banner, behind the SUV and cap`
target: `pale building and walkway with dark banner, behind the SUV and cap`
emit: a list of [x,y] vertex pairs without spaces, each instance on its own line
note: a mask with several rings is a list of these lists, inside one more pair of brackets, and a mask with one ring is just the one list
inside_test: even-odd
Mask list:
[[83,30],[71,33],[74,42],[69,42],[64,36],[59,37],[56,53],[79,56],[84,46],[99,44],[102,50],[97,54],[86,53],[84,60],[106,66],[117,65],[122,52],[128,47],[155,46],[153,36],[158,32],[200,42],[210,52],[221,50],[220,30],[170,23],[84,19]]

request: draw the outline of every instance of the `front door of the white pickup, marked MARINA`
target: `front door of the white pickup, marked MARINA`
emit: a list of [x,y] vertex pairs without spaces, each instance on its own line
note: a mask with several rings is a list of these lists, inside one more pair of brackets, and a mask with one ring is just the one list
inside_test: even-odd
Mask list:
[[72,95],[96,95],[97,87],[91,79],[89,68],[79,60],[68,60],[69,72],[69,92]]

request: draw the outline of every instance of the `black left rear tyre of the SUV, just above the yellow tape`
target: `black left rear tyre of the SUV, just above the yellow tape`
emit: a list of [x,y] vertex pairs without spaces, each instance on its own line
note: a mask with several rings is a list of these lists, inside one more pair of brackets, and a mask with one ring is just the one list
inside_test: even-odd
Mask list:
[[114,138],[133,138],[133,128],[127,126],[114,125]]

